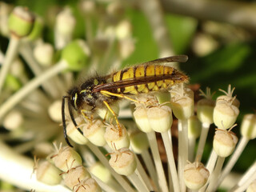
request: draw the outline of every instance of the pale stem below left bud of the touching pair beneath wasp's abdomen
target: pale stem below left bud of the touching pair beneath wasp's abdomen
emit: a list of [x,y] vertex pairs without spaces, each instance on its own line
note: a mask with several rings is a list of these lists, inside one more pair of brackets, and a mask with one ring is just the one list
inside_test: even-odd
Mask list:
[[155,165],[157,173],[158,173],[158,184],[159,184],[162,192],[168,192],[166,175],[165,175],[163,167],[162,167],[162,161],[161,161],[160,154],[158,151],[157,139],[155,138],[154,132],[147,133],[146,135],[147,135],[147,138],[149,139],[150,150],[153,154],[154,165]]

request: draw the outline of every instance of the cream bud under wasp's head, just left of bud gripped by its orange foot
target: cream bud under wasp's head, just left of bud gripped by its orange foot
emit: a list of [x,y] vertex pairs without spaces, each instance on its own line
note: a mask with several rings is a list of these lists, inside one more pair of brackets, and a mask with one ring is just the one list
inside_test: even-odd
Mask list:
[[106,144],[106,140],[104,138],[105,134],[105,125],[102,120],[96,119],[91,124],[86,123],[83,126],[83,134],[84,136],[95,146],[104,146]]

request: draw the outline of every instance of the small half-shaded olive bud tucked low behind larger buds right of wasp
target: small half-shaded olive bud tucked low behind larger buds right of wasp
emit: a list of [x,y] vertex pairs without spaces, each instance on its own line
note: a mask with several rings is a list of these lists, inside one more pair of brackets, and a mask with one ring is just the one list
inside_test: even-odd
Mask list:
[[188,137],[198,138],[201,134],[202,122],[199,121],[198,117],[193,115],[188,119]]

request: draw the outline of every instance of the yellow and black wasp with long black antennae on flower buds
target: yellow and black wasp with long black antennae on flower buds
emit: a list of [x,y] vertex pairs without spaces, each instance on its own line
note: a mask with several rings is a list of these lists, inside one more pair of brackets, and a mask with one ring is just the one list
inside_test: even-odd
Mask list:
[[[97,110],[107,108],[114,115],[119,125],[117,114],[111,109],[110,104],[121,98],[138,102],[133,95],[149,94],[154,91],[170,90],[170,87],[188,82],[188,77],[174,67],[164,64],[169,62],[186,62],[186,55],[158,58],[154,61],[144,62],[138,66],[130,66],[124,70],[118,70],[112,74],[94,77],[74,86],[62,98],[62,126],[64,138],[71,146],[66,134],[65,102],[74,126],[78,127],[74,120],[74,111],[92,122],[92,117]],[[78,128],[82,134],[82,130]]]

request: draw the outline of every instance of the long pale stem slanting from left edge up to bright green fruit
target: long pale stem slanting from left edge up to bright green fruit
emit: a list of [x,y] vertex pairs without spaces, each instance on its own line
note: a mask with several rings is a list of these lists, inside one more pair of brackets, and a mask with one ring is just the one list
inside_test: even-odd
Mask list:
[[67,63],[65,61],[58,62],[55,66],[51,67],[49,70],[46,70],[45,73],[40,74],[38,77],[34,78],[30,82],[23,86],[22,89],[18,90],[14,95],[12,95],[6,102],[0,106],[0,119],[12,109],[18,102],[21,102],[27,94],[30,94],[32,90],[35,90],[45,82],[47,79],[53,77],[55,74],[58,74],[62,70],[67,68]]

